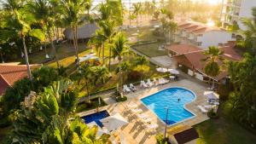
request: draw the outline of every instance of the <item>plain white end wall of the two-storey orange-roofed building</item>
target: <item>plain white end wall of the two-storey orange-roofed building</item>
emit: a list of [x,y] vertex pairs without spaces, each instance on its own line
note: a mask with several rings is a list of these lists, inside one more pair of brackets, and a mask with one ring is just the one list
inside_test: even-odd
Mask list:
[[207,49],[209,46],[218,46],[218,43],[227,43],[232,40],[232,35],[226,31],[210,31],[205,32],[201,37],[197,37],[197,42],[202,42],[202,49]]

